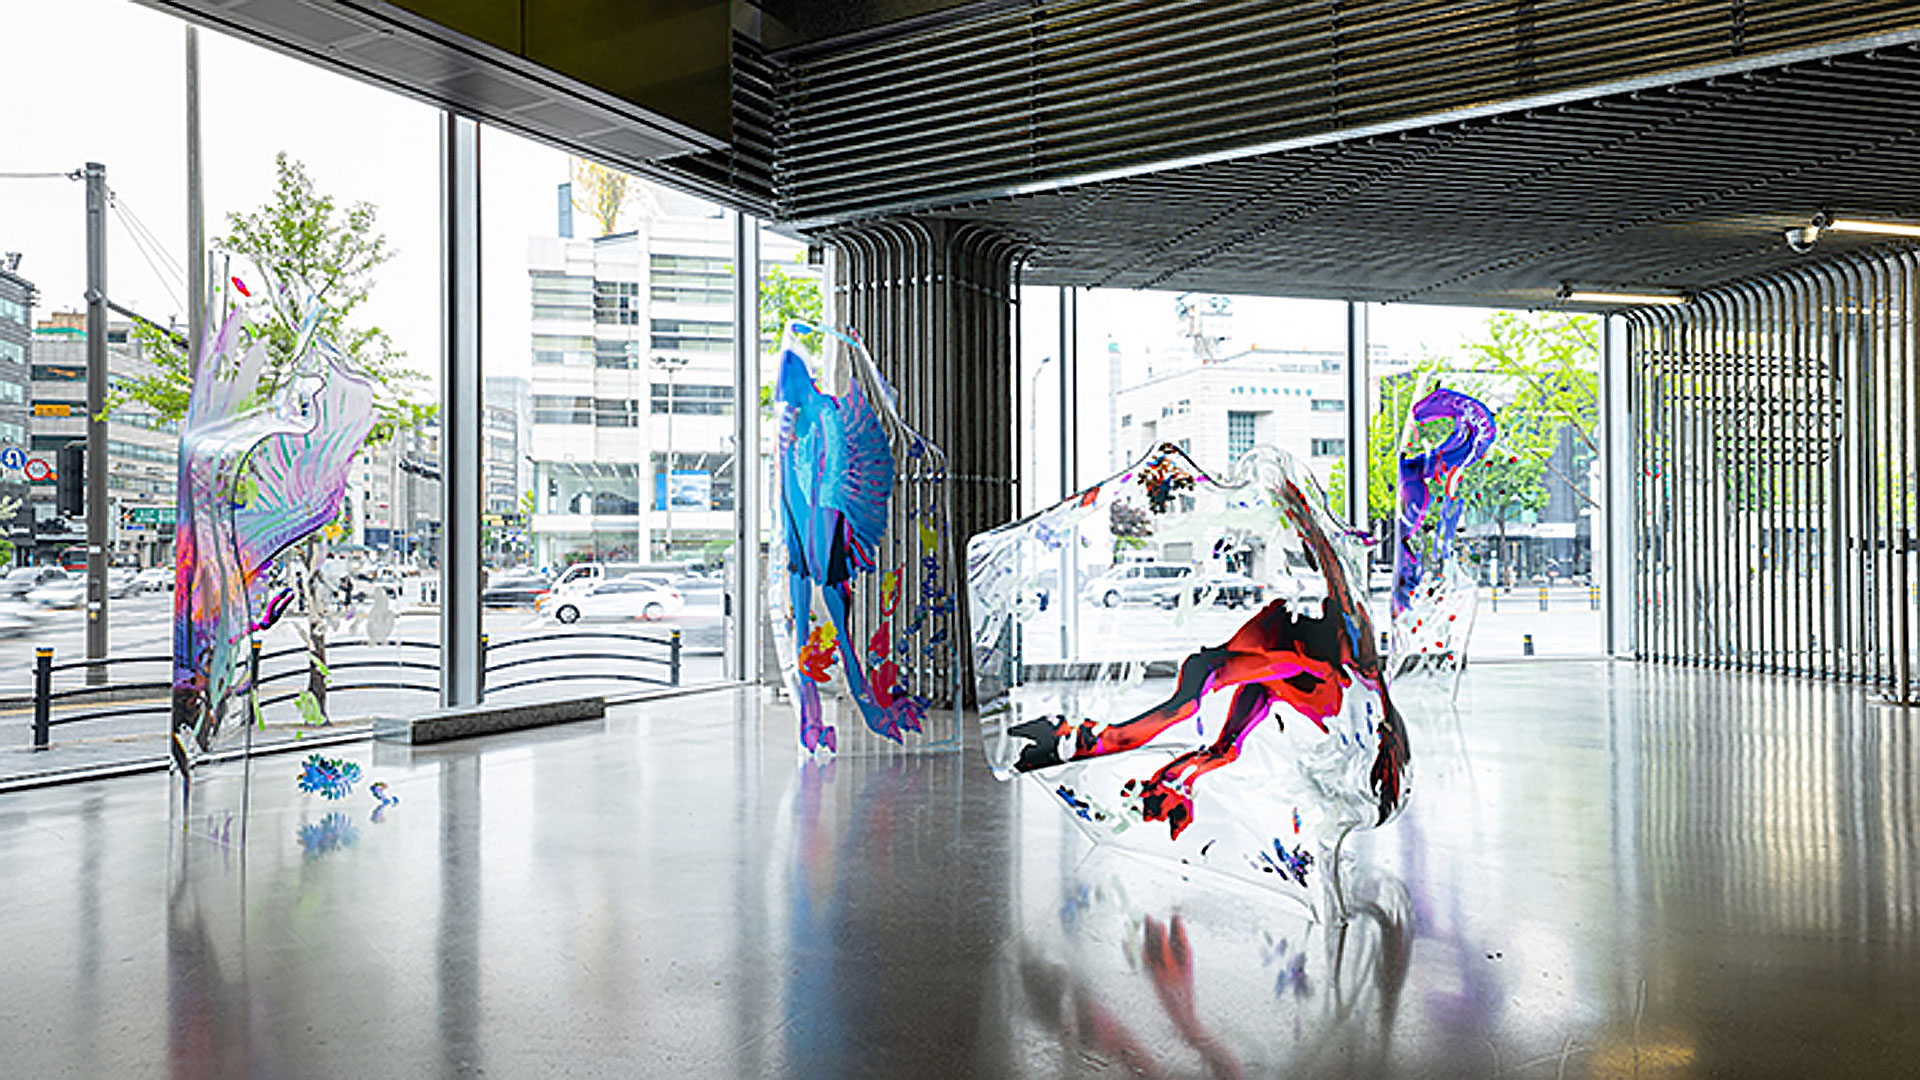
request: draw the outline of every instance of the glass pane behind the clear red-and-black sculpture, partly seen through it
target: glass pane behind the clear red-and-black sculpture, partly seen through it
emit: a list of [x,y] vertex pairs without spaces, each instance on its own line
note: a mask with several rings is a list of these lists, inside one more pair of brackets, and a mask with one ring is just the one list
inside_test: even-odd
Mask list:
[[[1331,302],[1023,288],[1023,511],[1119,475],[1160,446],[1213,475],[1254,446],[1279,446],[1332,494],[1346,454],[1344,317],[1346,306]],[[1135,655],[1142,642],[1185,640],[1175,628],[1194,619],[1231,636],[1246,621],[1242,605],[1265,596],[1256,584],[1284,569],[1258,548],[1196,550],[1181,525],[1194,511],[1192,496],[1175,496],[1160,515],[1116,507],[1062,567],[1037,569],[1046,601],[1027,625],[1027,661]],[[1194,588],[1200,605],[1179,603]],[[1054,590],[1079,603],[1052,603]]]

